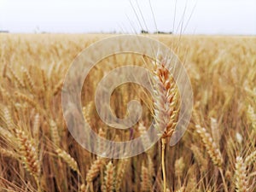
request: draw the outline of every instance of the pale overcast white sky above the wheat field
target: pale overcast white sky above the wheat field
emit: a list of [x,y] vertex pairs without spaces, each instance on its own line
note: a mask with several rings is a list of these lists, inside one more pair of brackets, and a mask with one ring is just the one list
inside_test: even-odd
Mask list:
[[149,0],[0,0],[0,30],[154,32],[155,19],[157,30],[163,32],[180,33],[182,28],[182,33],[190,34],[256,35],[256,0],[177,0],[177,4],[151,0],[151,4],[154,14]]

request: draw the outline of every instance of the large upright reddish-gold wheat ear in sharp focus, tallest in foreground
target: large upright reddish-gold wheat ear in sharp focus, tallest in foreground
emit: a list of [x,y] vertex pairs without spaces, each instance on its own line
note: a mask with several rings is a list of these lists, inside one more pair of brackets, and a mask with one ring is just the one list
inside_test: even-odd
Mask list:
[[166,60],[154,63],[154,121],[155,127],[163,131],[162,138],[172,137],[177,116],[177,86],[166,69]]

